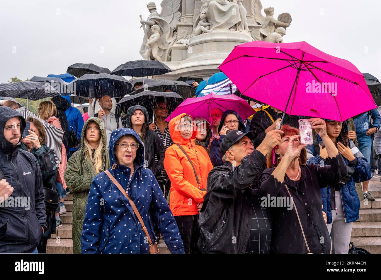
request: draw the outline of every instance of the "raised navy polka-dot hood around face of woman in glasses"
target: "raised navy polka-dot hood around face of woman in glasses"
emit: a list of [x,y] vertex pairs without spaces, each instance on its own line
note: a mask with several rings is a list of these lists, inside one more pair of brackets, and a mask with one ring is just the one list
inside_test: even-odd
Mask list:
[[115,159],[114,154],[114,146],[115,143],[118,141],[120,137],[123,135],[133,135],[136,139],[138,139],[140,145],[138,150],[136,151],[136,158],[134,160],[134,164],[141,166],[144,165],[144,145],[142,140],[140,140],[139,135],[135,132],[135,130],[131,128],[118,128],[115,129],[111,135],[110,135],[110,143],[109,143],[109,158],[110,158],[110,167],[112,165],[116,164],[119,169],[125,169],[126,167],[122,167],[122,165],[119,165]]

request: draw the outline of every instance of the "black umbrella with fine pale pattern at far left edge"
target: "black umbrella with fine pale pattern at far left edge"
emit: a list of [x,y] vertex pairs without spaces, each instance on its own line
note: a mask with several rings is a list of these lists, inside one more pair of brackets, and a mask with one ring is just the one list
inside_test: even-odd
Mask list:
[[46,97],[61,96],[50,84],[45,82],[16,82],[0,84],[0,97],[24,98],[36,101]]

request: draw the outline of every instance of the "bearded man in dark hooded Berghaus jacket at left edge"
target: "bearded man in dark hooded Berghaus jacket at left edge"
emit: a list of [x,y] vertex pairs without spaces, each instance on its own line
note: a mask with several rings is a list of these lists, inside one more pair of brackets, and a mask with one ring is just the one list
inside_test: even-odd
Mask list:
[[13,188],[0,204],[0,253],[37,253],[46,231],[41,170],[19,145],[25,126],[20,113],[0,107],[0,179]]

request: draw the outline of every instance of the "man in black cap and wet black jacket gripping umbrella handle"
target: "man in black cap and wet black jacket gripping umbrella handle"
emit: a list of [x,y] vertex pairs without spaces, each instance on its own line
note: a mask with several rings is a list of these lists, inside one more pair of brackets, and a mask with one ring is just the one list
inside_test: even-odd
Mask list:
[[281,132],[268,132],[256,150],[253,131],[232,130],[224,137],[224,164],[209,173],[199,216],[198,246],[203,253],[269,252],[271,222],[261,207],[257,186],[266,169],[266,154],[280,145]]

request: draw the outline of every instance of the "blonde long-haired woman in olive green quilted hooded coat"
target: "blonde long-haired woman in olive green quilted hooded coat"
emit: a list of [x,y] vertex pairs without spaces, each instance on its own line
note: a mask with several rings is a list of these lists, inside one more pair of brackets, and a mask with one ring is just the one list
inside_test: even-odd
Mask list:
[[90,185],[93,178],[110,167],[106,130],[101,119],[87,119],[82,129],[81,149],[69,158],[66,185],[73,193],[73,251],[81,253],[81,232]]

